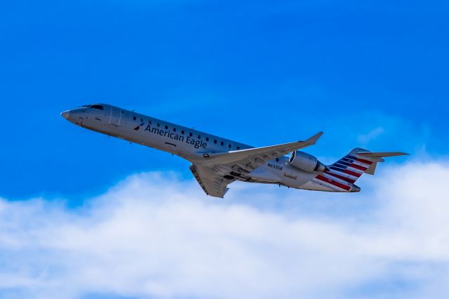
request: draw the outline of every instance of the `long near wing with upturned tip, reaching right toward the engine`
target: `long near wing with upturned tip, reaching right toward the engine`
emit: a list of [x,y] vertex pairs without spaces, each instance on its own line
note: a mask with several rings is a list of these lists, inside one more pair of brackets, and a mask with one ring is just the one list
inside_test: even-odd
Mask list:
[[271,145],[268,147],[255,147],[246,150],[236,150],[232,152],[219,152],[214,154],[206,154],[201,161],[203,166],[226,165],[235,168],[241,168],[246,172],[253,171],[269,160],[282,157],[289,152],[300,150],[309,145],[314,145],[323,132],[313,135],[305,141],[297,141],[285,143],[282,145]]

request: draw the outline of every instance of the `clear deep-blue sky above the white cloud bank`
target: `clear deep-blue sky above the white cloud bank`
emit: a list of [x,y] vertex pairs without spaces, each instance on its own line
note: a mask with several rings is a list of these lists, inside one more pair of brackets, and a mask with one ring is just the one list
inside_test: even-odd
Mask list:
[[322,130],[309,151],[329,159],[355,146],[445,154],[447,13],[444,1],[3,1],[0,194],[189,175],[59,115],[91,102],[255,146]]

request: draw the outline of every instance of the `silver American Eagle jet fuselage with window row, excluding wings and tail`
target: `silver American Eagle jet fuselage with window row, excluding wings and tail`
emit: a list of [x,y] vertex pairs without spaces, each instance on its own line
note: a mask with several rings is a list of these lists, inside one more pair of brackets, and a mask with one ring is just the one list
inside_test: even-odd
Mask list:
[[[204,154],[253,148],[234,140],[196,131],[112,105],[99,104],[80,107],[63,112],[62,116],[83,128],[170,152],[187,159],[192,164],[201,162],[204,159]],[[302,171],[291,166],[288,157],[267,161],[259,168],[244,175],[235,173],[232,168],[225,167],[220,171],[223,175],[234,176],[236,180],[246,182],[271,183],[297,189],[335,192],[326,185],[313,180],[319,173]]]

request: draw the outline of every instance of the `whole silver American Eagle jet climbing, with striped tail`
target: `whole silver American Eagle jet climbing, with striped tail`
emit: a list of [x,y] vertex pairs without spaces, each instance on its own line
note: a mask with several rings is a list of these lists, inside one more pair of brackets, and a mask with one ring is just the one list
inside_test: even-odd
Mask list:
[[[302,190],[359,192],[354,183],[373,175],[384,157],[403,152],[370,152],[355,148],[334,164],[325,165],[300,150],[314,145],[323,132],[304,141],[251,147],[177,124],[107,104],[84,105],[61,113],[83,128],[182,157],[206,194],[223,198],[232,182],[276,184]],[[286,154],[290,157],[286,157]]]

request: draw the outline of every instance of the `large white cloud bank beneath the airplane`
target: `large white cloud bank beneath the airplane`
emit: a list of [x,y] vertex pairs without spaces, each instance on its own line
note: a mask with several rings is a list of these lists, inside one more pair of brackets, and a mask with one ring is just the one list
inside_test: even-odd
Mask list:
[[1,200],[0,297],[448,298],[449,166],[382,173],[360,194],[236,184],[222,200],[146,173],[76,209]]

